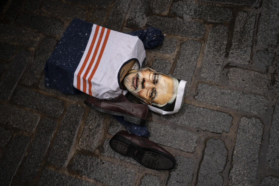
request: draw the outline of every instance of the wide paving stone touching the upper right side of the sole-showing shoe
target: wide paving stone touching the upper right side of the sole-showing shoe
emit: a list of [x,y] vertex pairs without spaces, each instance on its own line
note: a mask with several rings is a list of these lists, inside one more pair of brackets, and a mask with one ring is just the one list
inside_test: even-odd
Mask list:
[[194,153],[196,151],[197,135],[180,128],[173,128],[150,121],[147,123],[147,128],[150,132],[149,140],[185,152]]

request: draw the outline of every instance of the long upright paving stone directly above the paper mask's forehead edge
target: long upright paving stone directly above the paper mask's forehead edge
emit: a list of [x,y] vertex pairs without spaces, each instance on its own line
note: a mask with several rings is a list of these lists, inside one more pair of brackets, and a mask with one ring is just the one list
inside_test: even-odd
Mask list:
[[200,51],[201,42],[195,40],[187,40],[182,44],[180,49],[180,54],[172,75],[187,81],[185,85],[185,95],[189,92]]

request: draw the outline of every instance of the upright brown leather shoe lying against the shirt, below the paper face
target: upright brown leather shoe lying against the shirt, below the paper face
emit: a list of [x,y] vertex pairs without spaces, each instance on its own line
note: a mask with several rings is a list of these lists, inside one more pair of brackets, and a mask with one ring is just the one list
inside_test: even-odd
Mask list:
[[100,112],[123,116],[124,120],[145,126],[148,107],[145,104],[131,103],[123,94],[114,99],[87,98],[84,103]]

